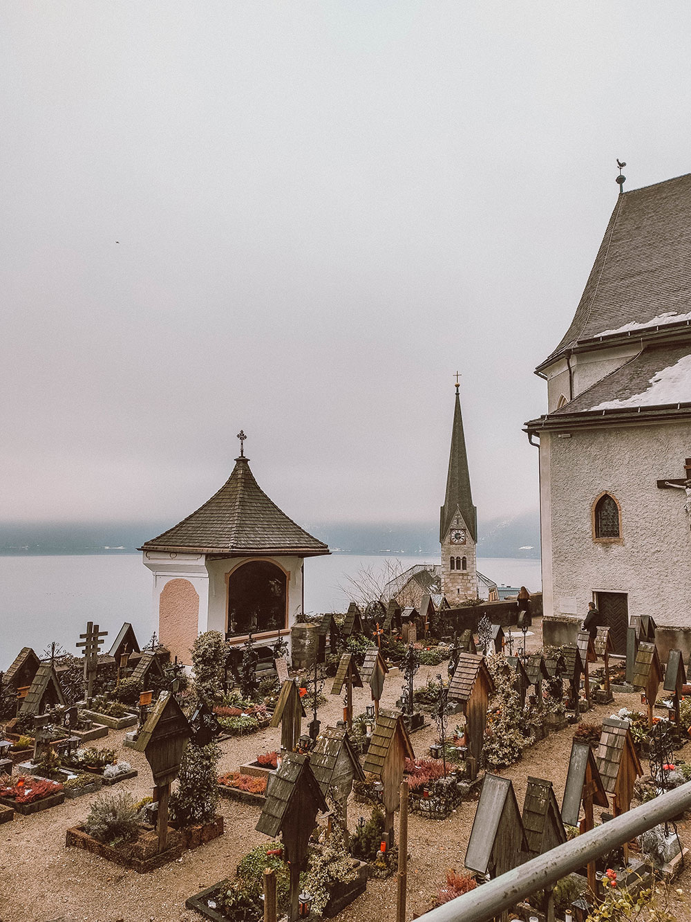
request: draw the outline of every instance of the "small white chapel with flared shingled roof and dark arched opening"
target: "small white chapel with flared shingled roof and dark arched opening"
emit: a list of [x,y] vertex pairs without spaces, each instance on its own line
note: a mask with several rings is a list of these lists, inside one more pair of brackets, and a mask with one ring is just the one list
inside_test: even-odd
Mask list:
[[158,634],[190,665],[197,635],[220,631],[231,644],[252,632],[266,642],[287,635],[303,611],[304,559],[330,553],[262,491],[245,457],[196,512],[139,550],[154,574]]

